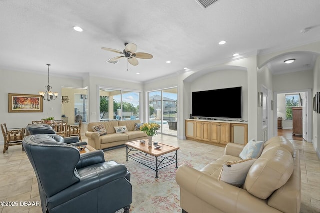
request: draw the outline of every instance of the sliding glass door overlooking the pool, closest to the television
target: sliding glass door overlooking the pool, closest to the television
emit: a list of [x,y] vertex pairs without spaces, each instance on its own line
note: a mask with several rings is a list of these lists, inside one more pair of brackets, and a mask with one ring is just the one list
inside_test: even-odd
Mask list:
[[149,92],[149,122],[161,126],[159,133],[177,135],[177,88]]

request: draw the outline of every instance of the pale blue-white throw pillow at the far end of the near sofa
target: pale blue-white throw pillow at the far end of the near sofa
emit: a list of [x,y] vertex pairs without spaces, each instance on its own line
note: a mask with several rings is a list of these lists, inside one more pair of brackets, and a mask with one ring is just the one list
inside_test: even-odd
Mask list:
[[262,150],[264,148],[263,144],[264,144],[264,141],[255,141],[254,139],[251,139],[241,151],[239,155],[240,158],[248,159],[248,158],[260,157]]

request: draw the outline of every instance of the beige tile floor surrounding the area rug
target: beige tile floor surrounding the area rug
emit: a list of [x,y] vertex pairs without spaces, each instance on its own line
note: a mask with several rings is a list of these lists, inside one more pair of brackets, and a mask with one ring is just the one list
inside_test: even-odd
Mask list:
[[[85,137],[85,136],[84,136]],[[159,136],[160,137],[160,136]],[[183,143],[176,137],[170,141]],[[301,213],[320,213],[320,160],[312,143],[292,140],[300,150],[302,176]],[[197,142],[194,142],[197,143]],[[3,150],[3,144],[0,145]],[[222,154],[222,153],[221,153]],[[0,213],[41,213],[37,180],[27,156],[21,146],[11,146],[0,153]],[[9,202],[17,203],[9,203]],[[12,206],[17,204],[17,206]]]

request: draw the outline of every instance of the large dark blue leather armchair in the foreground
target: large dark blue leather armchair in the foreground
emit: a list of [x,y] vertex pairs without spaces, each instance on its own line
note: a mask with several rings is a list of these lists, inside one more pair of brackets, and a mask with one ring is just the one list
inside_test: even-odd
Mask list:
[[105,161],[102,150],[81,154],[51,135],[29,135],[22,145],[33,166],[43,213],[128,213],[130,174],[124,164]]

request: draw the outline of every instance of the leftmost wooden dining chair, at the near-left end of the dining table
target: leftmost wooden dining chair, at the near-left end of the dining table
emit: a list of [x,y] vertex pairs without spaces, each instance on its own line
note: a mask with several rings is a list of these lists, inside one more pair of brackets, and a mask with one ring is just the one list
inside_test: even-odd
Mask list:
[[8,150],[9,146],[22,144],[26,128],[16,128],[8,130],[6,124],[4,123],[1,124],[1,130],[4,138],[3,153]]

